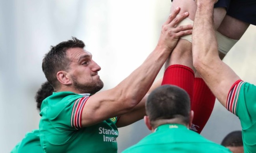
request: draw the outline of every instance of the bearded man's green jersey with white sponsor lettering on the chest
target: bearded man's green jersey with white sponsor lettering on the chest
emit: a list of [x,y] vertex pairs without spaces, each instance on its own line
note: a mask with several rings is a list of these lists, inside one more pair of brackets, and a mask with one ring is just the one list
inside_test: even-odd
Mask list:
[[[41,146],[52,153],[117,152],[117,117],[90,127],[82,127],[85,97],[72,92],[58,92],[46,98],[39,122]],[[84,113],[84,112],[83,112]]]

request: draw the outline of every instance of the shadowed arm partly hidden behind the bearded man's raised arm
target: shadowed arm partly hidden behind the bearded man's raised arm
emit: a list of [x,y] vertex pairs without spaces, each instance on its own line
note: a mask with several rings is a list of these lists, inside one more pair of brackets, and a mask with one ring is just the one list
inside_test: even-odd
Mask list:
[[137,122],[138,120],[143,119],[143,117],[146,115],[145,102],[147,100],[147,97],[152,90],[161,86],[162,80],[163,80],[163,78],[156,80],[156,82],[154,82],[152,84],[152,86],[148,90],[148,93],[142,98],[142,100],[139,102],[139,104],[137,104],[134,107],[134,109],[132,109],[132,111],[130,111],[129,113],[126,113],[126,114],[120,116],[115,125],[117,127],[124,127],[124,126],[128,126],[134,122]]

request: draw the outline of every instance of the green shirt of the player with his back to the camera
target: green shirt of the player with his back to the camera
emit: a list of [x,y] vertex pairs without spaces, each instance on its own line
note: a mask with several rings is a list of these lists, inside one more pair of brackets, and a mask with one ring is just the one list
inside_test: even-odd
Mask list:
[[181,124],[163,124],[123,153],[231,153]]

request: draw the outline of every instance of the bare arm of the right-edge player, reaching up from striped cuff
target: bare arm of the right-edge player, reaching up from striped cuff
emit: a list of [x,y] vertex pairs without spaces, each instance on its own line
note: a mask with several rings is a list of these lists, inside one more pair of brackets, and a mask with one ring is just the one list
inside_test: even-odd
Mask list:
[[221,104],[226,107],[230,88],[239,76],[218,56],[213,28],[214,0],[197,0],[193,26],[193,65]]

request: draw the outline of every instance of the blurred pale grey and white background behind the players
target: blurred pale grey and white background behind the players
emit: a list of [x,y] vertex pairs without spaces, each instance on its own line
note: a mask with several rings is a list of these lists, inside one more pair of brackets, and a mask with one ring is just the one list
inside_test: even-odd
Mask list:
[[[35,93],[46,81],[41,62],[51,45],[83,40],[110,89],[154,49],[171,0],[0,0],[0,152],[38,128]],[[243,79],[256,84],[256,27],[250,26],[224,58]],[[158,78],[163,75],[163,69]],[[103,90],[104,90],[103,89]],[[220,143],[240,130],[239,119],[216,100],[202,135]],[[143,120],[119,129],[118,152],[150,131]]]

